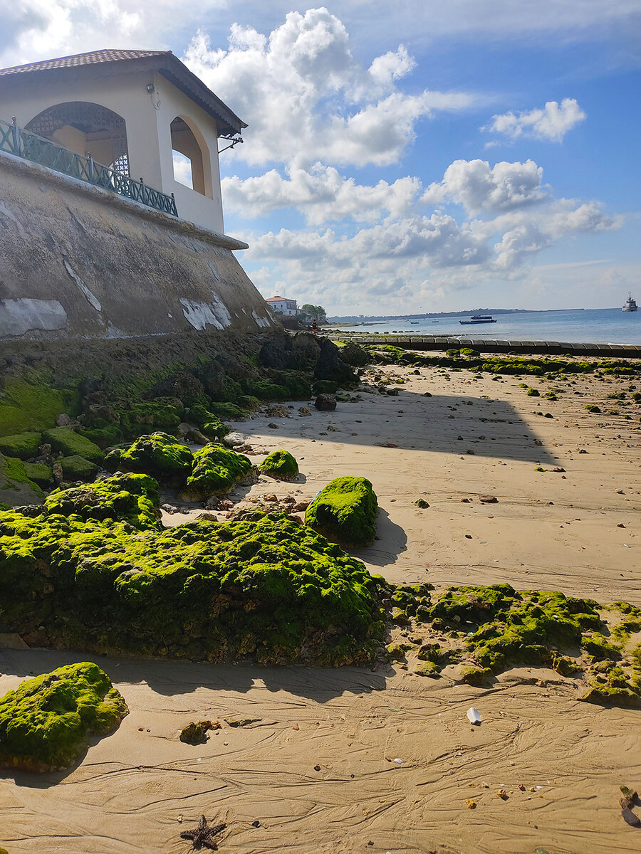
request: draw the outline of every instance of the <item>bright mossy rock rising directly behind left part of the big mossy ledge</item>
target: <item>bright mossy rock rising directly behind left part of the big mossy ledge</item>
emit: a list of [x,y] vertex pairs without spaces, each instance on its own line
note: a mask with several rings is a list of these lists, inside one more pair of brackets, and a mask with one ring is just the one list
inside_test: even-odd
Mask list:
[[115,475],[87,486],[55,489],[44,502],[49,514],[128,522],[141,530],[158,527],[159,505],[156,481],[138,474]]

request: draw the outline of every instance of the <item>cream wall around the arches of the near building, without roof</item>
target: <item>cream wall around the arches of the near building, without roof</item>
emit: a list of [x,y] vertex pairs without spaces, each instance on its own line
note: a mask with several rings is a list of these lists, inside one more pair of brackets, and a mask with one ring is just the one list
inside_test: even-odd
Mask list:
[[[10,121],[15,115],[21,127],[45,109],[59,103],[85,101],[97,103],[119,114],[126,125],[129,166],[132,178],[143,178],[155,190],[174,193],[179,217],[203,228],[224,232],[221,202],[221,176],[218,162],[218,130],[215,120],[192,102],[160,73],[118,74],[115,68],[79,79],[65,80],[64,85],[45,80],[24,85],[16,74],[10,91],[0,92],[0,119]],[[154,91],[147,91],[153,84]],[[173,178],[171,123],[181,116],[196,135],[203,152],[205,195],[190,190]],[[72,138],[73,137],[73,138]],[[78,132],[68,129],[56,138],[59,144],[85,154],[85,143]],[[98,162],[99,143],[89,146]],[[109,163],[105,165],[109,166]]]

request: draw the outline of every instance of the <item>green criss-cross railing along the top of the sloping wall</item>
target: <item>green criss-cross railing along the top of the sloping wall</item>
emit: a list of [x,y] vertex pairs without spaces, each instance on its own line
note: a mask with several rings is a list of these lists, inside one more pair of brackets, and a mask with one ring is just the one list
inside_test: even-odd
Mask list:
[[39,163],[40,166],[49,167],[55,172],[78,178],[79,181],[96,187],[103,187],[103,190],[112,190],[119,196],[140,202],[148,208],[178,216],[173,193],[168,196],[167,193],[148,187],[144,181],[134,181],[124,172],[97,163],[91,156],[83,157],[63,149],[50,139],[38,137],[37,134],[18,127],[15,120],[11,124],[0,120],[0,151],[8,151],[11,155]]

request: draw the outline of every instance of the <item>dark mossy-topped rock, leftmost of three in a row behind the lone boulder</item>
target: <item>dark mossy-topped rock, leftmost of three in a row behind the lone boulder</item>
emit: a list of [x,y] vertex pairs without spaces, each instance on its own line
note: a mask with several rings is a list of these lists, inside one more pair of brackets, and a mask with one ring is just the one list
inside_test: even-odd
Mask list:
[[150,433],[139,436],[124,451],[110,451],[106,465],[112,471],[135,471],[156,477],[173,478],[184,482],[191,473],[191,451],[167,433]]

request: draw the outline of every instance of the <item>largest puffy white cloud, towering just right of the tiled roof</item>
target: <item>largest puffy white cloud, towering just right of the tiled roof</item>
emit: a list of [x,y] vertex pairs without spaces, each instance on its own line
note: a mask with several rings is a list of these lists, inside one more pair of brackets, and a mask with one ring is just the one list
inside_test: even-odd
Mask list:
[[473,103],[463,92],[398,91],[395,81],[413,67],[407,50],[364,67],[324,8],[291,12],[268,36],[234,26],[227,50],[212,50],[199,32],[183,59],[248,123],[234,156],[252,164],[388,165],[414,141],[417,120]]

